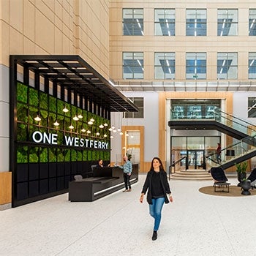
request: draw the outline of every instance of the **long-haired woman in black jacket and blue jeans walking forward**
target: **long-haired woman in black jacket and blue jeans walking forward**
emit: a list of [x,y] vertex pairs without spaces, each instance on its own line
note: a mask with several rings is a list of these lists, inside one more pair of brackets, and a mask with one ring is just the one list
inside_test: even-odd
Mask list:
[[167,173],[165,172],[159,157],[154,157],[152,159],[151,168],[147,173],[140,195],[140,203],[143,203],[143,198],[147,191],[149,214],[154,218],[154,230],[152,236],[152,240],[154,241],[157,240],[157,231],[162,217],[162,206],[164,203],[169,203],[169,201],[173,202],[170,186],[167,181]]

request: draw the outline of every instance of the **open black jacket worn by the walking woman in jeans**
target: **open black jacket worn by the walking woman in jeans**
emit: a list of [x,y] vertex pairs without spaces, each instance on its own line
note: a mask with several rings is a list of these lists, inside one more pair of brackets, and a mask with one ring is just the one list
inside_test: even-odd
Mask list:
[[[154,170],[149,170],[146,176],[146,181],[143,185],[143,189],[142,189],[142,193],[144,193],[144,195],[146,195],[146,191],[148,189],[148,194],[147,194],[147,202],[151,205],[152,204],[152,184],[151,184],[151,180],[152,180],[152,176],[153,176]],[[165,203],[169,203],[169,200],[167,198],[166,194],[170,194],[170,186],[169,183],[167,181],[167,173],[165,172],[165,170],[160,170],[159,172],[160,175],[160,181],[162,184],[162,189],[163,191],[165,191]]]

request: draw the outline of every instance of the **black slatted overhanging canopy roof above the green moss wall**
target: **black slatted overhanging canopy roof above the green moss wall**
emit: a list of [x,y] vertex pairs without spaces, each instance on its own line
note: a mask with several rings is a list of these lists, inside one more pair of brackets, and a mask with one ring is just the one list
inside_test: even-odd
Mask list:
[[38,72],[59,86],[90,97],[112,112],[138,112],[138,108],[93,67],[77,55],[12,55],[10,59]]

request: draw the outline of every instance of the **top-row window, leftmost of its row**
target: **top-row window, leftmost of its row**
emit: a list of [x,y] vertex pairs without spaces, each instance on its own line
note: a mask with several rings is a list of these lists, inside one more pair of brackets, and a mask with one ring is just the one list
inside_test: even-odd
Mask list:
[[124,36],[143,36],[143,9],[123,9]]

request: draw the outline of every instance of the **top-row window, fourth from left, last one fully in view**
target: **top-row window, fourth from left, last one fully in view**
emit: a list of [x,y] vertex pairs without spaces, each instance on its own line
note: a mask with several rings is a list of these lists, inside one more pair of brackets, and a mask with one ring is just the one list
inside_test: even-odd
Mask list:
[[218,36],[238,35],[238,10],[219,9],[218,10]]

